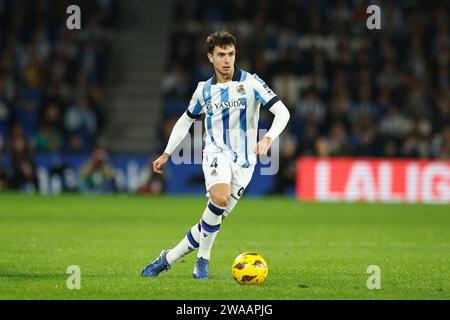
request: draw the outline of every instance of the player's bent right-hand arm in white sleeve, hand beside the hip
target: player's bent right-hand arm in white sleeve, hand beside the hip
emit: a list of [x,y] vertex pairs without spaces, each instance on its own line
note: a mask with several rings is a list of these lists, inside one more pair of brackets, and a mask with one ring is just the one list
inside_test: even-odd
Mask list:
[[272,126],[255,146],[254,152],[258,155],[266,155],[272,142],[283,132],[289,122],[290,113],[280,98],[267,86],[257,75],[252,79],[253,92],[263,108],[268,109],[275,115]]

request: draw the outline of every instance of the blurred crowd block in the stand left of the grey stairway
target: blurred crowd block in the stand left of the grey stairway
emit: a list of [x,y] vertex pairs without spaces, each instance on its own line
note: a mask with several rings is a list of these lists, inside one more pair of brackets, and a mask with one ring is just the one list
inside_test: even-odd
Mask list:
[[36,152],[91,152],[104,127],[115,1],[77,3],[83,28],[72,31],[71,1],[0,0],[0,190],[37,188]]

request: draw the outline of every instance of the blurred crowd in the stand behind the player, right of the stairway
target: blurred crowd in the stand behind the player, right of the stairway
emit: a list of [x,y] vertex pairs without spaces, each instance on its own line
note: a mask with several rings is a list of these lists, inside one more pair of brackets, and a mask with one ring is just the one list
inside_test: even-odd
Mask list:
[[[449,3],[380,3],[381,30],[368,30],[367,1],[177,1],[165,138],[212,74],[206,36],[223,29],[238,40],[237,67],[290,108],[285,168],[302,155],[449,159]],[[261,127],[270,119],[263,112]]]

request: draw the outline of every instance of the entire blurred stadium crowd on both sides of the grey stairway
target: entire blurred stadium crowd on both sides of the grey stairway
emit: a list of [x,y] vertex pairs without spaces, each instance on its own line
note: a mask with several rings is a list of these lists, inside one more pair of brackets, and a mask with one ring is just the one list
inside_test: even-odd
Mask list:
[[[69,0],[0,0],[0,190],[37,188],[37,152],[91,153],[81,191],[114,189],[95,141],[107,121],[117,0],[77,3],[86,10],[73,32]],[[294,184],[303,155],[450,159],[449,3],[382,1],[381,30],[366,27],[369,4],[176,0],[155,149],[213,72],[206,36],[228,30],[238,40],[237,67],[258,74],[291,111],[275,191]],[[260,128],[268,129],[272,115],[262,109]]]

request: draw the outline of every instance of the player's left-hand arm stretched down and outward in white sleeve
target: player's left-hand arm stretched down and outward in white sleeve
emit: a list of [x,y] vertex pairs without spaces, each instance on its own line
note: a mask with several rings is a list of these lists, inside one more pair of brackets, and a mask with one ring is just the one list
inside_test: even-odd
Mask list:
[[185,113],[178,119],[170,133],[169,142],[163,154],[153,161],[153,171],[159,174],[164,172],[163,166],[169,161],[169,157],[177,146],[183,141],[192,123],[201,117],[203,106],[200,103],[200,84],[197,86]]

